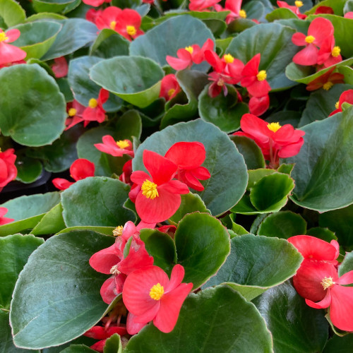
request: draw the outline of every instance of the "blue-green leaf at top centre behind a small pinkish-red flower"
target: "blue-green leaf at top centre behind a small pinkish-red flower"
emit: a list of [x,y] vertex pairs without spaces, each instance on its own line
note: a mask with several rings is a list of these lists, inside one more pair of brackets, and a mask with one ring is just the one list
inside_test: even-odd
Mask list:
[[[189,15],[181,15],[169,18],[160,25],[149,30],[145,35],[137,37],[130,44],[130,55],[145,56],[166,66],[167,55],[177,56],[177,50],[192,44],[203,46],[208,38],[215,42],[212,32],[197,18]],[[204,61],[194,65],[198,71],[208,71],[210,65]]]

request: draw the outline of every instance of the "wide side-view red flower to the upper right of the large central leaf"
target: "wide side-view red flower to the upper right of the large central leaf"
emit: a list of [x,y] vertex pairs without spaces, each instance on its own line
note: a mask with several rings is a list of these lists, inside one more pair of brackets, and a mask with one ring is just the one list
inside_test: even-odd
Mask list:
[[252,138],[261,148],[265,159],[270,161],[271,168],[278,167],[280,158],[297,155],[304,143],[304,131],[294,129],[290,124],[268,124],[253,114],[244,114],[240,126],[244,132],[234,135]]

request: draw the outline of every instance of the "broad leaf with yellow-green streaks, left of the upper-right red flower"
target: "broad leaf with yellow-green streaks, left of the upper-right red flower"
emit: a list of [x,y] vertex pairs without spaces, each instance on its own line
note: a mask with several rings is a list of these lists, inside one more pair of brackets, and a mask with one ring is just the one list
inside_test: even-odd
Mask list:
[[292,43],[292,28],[278,23],[263,23],[241,32],[227,48],[227,53],[246,64],[261,53],[259,70],[265,70],[272,90],[283,90],[295,83],[285,76],[286,66],[292,62],[298,47]]

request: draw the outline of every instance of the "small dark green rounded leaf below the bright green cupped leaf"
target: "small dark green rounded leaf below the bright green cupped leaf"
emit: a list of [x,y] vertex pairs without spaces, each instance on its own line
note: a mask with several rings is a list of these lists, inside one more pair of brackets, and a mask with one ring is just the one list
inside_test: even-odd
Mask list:
[[306,234],[306,222],[301,215],[291,211],[273,213],[261,222],[257,234],[288,239],[294,235]]

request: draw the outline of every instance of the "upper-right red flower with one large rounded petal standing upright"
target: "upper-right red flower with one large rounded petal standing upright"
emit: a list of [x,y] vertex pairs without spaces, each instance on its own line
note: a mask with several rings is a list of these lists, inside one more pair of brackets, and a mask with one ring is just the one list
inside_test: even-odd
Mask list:
[[298,65],[315,65],[318,61],[318,47],[323,41],[333,36],[333,24],[326,18],[314,18],[309,25],[308,35],[294,33],[292,42],[295,45],[304,46],[300,52],[294,55],[293,61]]

